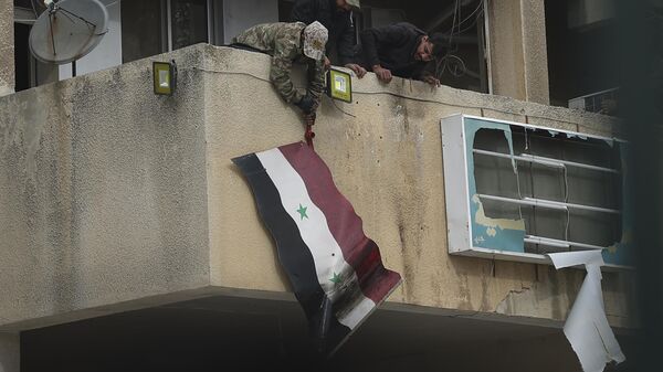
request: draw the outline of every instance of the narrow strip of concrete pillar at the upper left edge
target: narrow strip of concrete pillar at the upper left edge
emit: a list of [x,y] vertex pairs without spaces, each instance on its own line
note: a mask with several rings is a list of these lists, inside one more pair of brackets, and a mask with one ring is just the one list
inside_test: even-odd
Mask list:
[[0,0],[0,96],[13,93],[13,1]]

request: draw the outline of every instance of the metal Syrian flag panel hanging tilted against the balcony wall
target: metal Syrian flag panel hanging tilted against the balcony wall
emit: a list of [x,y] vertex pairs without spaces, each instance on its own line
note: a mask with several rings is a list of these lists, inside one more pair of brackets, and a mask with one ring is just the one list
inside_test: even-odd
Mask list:
[[400,275],[385,268],[361,219],[308,146],[232,161],[253,189],[318,351],[333,354],[396,289]]

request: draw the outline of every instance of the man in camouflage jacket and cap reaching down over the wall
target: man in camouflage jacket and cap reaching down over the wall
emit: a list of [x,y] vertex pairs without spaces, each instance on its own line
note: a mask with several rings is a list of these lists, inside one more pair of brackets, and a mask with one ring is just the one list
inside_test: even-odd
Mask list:
[[[325,89],[325,44],[327,29],[319,22],[306,25],[294,23],[265,23],[255,25],[232,42],[250,46],[272,55],[270,79],[285,102],[299,107],[306,117],[315,114]],[[294,62],[308,65],[308,88],[306,94],[297,92],[291,78]]]

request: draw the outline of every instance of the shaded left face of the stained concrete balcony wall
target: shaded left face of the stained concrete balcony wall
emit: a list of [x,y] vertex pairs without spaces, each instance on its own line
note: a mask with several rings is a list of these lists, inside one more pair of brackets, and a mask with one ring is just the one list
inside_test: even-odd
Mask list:
[[157,97],[140,61],[0,98],[0,325],[209,284],[201,77]]

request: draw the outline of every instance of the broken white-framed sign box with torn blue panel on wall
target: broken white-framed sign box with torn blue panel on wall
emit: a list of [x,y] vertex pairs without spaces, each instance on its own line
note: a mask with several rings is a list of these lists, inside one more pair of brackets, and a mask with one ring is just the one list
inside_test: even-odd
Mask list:
[[630,266],[625,141],[455,115],[442,144],[450,253],[549,263],[601,249]]

